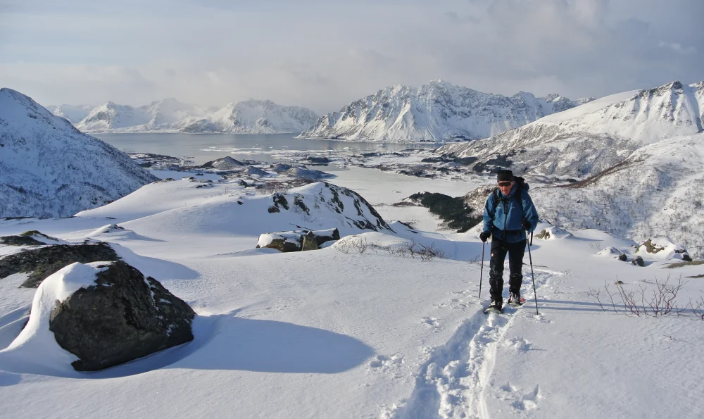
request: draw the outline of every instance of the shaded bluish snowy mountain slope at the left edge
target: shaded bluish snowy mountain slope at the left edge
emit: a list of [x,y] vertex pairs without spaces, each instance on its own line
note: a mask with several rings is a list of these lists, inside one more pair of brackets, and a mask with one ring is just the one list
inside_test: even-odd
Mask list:
[[66,217],[154,180],[122,151],[0,89],[0,217]]

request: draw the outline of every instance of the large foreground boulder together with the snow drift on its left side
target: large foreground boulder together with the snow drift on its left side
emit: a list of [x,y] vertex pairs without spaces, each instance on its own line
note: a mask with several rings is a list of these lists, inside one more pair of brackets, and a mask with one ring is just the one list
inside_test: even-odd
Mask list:
[[188,304],[127,263],[73,263],[42,282],[29,322],[0,360],[101,370],[191,341],[194,316]]

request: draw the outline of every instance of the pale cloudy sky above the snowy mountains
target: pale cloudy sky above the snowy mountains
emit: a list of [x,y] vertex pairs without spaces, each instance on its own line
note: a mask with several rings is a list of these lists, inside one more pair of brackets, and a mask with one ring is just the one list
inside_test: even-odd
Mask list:
[[434,79],[600,97],[704,80],[702,16],[703,0],[0,0],[0,87],[318,114]]

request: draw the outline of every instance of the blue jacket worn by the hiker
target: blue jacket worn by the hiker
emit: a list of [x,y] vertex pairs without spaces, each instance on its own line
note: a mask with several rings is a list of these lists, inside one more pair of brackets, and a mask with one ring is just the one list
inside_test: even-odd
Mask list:
[[531,225],[528,232],[535,230],[538,225],[538,211],[536,211],[533,200],[528,194],[528,184],[524,183],[523,185],[521,191],[522,207],[513,196],[518,184],[513,185],[508,196],[502,194],[501,189],[498,189],[500,198],[497,198],[496,192],[491,192],[484,205],[485,232],[490,232],[496,239],[517,243],[526,239],[525,230],[522,227],[523,220],[528,220]]

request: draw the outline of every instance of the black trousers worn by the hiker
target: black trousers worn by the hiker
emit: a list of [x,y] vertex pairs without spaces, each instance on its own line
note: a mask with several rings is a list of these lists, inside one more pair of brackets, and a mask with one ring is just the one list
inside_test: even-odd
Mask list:
[[503,299],[503,261],[508,253],[508,292],[519,294],[523,283],[523,255],[526,251],[526,241],[508,243],[499,239],[491,239],[491,262],[489,263],[489,285],[491,299]]

